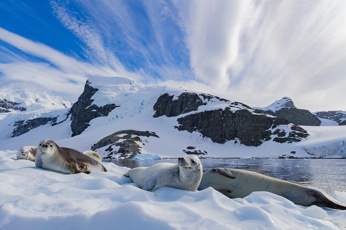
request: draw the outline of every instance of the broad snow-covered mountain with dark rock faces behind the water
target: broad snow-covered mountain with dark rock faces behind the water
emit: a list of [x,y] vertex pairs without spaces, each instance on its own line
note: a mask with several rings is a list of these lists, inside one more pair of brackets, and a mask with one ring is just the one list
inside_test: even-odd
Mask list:
[[79,151],[95,150],[106,158],[139,153],[174,157],[346,155],[346,126],[326,129],[292,124],[276,113],[285,114],[280,111],[287,109],[286,114],[297,116],[304,110],[295,108],[286,97],[266,108],[182,88],[97,75],[87,80],[71,108],[6,113],[13,116],[0,120],[0,148],[13,150],[48,138]]

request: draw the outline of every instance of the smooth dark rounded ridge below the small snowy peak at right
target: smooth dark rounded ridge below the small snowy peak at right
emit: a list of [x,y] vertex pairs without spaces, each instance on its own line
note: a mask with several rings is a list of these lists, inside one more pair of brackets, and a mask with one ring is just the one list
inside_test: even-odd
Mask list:
[[271,110],[264,111],[262,109],[256,109],[255,111],[256,113],[265,113],[272,116],[283,117],[290,123],[295,125],[319,126],[321,124],[320,119],[318,119],[315,115],[313,115],[306,109],[284,107],[276,112],[273,112]]

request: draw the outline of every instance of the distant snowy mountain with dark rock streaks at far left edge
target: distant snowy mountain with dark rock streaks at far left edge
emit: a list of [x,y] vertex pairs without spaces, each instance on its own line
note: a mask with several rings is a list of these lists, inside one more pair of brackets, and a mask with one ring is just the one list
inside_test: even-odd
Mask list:
[[6,85],[0,88],[0,140],[19,136],[44,124],[55,124],[72,103],[60,96]]

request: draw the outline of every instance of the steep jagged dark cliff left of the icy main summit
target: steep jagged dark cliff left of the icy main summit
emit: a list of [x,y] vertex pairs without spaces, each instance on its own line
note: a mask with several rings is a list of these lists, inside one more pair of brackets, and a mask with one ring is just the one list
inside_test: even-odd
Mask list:
[[90,86],[88,80],[85,83],[84,91],[78,98],[77,102],[73,104],[67,116],[71,115],[71,130],[72,136],[81,134],[89,125],[89,122],[100,116],[108,116],[108,114],[115,109],[115,104],[107,104],[101,107],[91,105],[94,101],[91,97],[98,91],[98,89]]

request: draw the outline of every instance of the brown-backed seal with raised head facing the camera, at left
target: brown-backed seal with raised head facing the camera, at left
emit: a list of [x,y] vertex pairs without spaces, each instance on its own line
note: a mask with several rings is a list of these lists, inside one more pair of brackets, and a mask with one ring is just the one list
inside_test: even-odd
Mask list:
[[43,140],[37,146],[36,167],[67,174],[107,172],[106,168],[72,148],[59,147],[52,140]]

